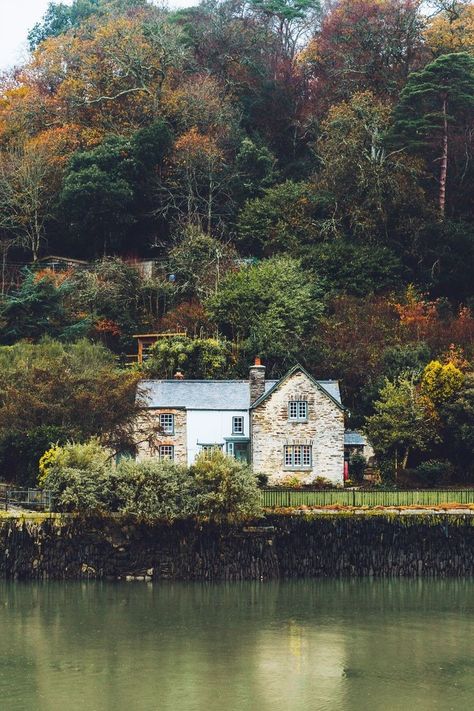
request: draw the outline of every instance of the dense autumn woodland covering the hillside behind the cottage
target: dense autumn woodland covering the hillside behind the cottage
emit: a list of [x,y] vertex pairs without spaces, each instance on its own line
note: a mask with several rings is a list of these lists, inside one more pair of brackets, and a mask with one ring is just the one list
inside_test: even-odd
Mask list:
[[122,431],[132,336],[169,331],[146,375],[300,362],[387,477],[474,477],[472,2],[74,0],[28,39],[0,80],[4,469]]

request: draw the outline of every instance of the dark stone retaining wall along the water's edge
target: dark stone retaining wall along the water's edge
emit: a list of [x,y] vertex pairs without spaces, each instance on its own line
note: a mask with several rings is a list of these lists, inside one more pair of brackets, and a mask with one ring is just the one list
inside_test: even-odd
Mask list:
[[252,525],[123,517],[0,520],[10,580],[270,580],[474,576],[469,514],[268,515]]

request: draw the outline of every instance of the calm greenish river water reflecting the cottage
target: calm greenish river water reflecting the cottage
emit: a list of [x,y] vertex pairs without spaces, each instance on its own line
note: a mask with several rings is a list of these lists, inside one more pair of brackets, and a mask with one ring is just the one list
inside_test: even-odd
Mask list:
[[0,584],[1,711],[474,707],[474,581]]

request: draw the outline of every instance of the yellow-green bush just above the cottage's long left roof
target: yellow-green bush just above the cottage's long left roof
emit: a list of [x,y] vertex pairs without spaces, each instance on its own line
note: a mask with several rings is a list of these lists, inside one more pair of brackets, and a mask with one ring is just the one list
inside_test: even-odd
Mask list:
[[232,362],[231,344],[216,338],[162,338],[143,364],[150,378],[173,378],[181,370],[186,378],[225,378]]

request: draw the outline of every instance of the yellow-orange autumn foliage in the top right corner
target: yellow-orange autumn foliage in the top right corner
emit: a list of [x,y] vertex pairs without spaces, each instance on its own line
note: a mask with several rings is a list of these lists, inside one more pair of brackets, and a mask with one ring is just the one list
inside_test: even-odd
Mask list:
[[425,40],[435,55],[449,52],[474,53],[474,5],[459,8],[455,19],[446,15],[433,17],[427,24]]

